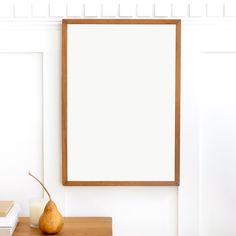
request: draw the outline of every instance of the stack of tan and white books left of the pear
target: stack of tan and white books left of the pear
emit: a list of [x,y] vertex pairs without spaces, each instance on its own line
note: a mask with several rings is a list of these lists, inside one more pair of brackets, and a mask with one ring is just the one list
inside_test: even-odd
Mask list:
[[0,201],[0,236],[11,236],[18,223],[20,207],[14,201]]

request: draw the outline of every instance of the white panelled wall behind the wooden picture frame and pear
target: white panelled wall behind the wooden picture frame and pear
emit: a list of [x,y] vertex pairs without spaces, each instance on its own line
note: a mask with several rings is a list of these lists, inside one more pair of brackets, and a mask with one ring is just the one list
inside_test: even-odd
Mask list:
[[[112,216],[115,236],[233,235],[236,22],[227,17],[234,11],[223,12],[231,3],[225,8],[209,4],[207,14],[217,18],[207,18],[198,4],[190,5],[191,13],[183,1],[159,8],[161,15],[188,16],[182,27],[179,188],[62,186],[58,16],[68,15],[68,9],[55,1],[50,10],[28,3],[3,4],[0,11],[0,199],[15,199],[27,215],[28,200],[42,196],[27,176],[31,169],[65,216]],[[143,5],[143,15],[155,17],[156,11]],[[88,6],[83,17],[102,16],[100,3]],[[115,3],[107,6],[108,15],[120,15]],[[122,9],[124,15],[138,16],[136,4]]]

